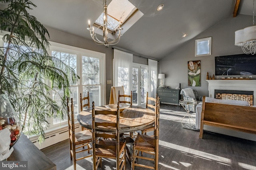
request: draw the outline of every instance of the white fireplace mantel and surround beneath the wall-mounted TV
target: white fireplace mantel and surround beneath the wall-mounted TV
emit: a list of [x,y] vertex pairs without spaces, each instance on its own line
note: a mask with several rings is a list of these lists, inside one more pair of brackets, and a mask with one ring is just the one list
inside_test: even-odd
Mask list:
[[[254,97],[254,94],[256,94],[256,80],[206,80],[206,81],[208,82],[208,90],[209,90],[210,98],[216,98],[215,90],[220,90],[219,92],[217,91],[218,93],[221,94],[219,96],[222,96],[222,94],[226,94],[225,98],[226,96],[227,98],[230,98],[230,95],[228,94],[239,94],[239,95],[242,94],[242,95],[245,95],[245,98],[247,98],[247,100],[249,99],[249,96],[250,96],[251,106],[253,104],[256,104],[256,98]],[[224,90],[224,91],[221,91],[221,90]],[[244,96],[242,97],[244,100]],[[230,100],[232,100],[232,98],[234,98],[234,95],[233,96],[231,95]]]

